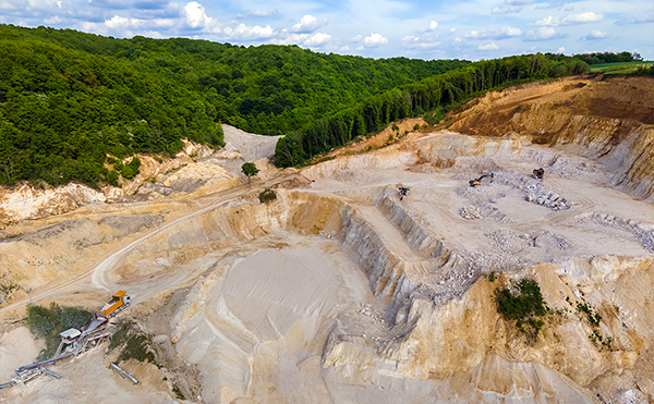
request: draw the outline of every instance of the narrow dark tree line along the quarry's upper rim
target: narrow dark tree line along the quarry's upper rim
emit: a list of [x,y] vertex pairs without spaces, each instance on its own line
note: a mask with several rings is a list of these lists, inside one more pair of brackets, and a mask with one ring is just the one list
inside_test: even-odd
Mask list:
[[330,117],[314,120],[277,142],[278,167],[304,163],[314,156],[377,132],[390,122],[451,108],[484,91],[511,84],[588,72],[578,58],[529,54],[481,61],[370,97]]

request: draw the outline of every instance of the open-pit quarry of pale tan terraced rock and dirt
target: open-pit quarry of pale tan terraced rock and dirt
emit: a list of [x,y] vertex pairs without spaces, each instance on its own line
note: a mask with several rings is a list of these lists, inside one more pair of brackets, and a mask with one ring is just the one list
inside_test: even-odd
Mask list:
[[[653,100],[652,78],[576,77],[488,93],[436,127],[398,122],[301,170],[228,128],[227,149],[132,196],[21,218],[4,189],[0,383],[43,348],[31,298],[95,309],[128,291],[119,318],[155,362],[121,364],[134,385],[106,342],[0,401],[651,403]],[[520,279],[548,308],[535,336],[495,302]]]

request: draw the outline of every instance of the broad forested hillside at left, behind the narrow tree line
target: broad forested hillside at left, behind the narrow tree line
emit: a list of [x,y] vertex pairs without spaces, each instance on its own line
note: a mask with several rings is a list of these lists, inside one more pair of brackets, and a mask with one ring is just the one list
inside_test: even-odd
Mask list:
[[94,187],[133,176],[107,154],[173,156],[182,138],[219,147],[220,123],[275,134],[468,64],[8,25],[0,63],[0,185]]

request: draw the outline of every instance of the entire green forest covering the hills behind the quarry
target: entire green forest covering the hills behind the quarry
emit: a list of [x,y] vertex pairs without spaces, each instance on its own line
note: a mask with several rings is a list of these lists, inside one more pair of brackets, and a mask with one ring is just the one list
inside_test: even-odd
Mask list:
[[[595,60],[606,57],[588,63]],[[375,60],[13,25],[0,25],[0,185],[92,187],[136,175],[141,161],[129,158],[136,152],[173,156],[183,138],[220,147],[220,123],[287,135],[275,162],[296,166],[396,119],[588,70],[579,58],[550,53]]]

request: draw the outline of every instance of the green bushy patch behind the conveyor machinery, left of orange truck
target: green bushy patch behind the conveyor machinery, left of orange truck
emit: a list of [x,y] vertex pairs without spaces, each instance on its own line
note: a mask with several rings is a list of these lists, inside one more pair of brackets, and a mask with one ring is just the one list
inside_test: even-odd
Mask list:
[[38,360],[51,358],[57,353],[61,342],[59,333],[76,328],[81,330],[90,321],[93,313],[81,307],[59,306],[50,303],[50,307],[27,306],[25,322],[32,333],[46,340],[46,348],[41,351]]

